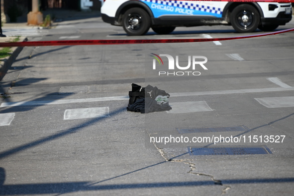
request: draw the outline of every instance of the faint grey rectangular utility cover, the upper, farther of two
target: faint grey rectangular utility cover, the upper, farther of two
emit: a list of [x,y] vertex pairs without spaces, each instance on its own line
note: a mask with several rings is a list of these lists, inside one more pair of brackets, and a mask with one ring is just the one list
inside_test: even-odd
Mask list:
[[179,133],[193,133],[193,132],[224,132],[224,131],[248,131],[245,126],[231,126],[231,127],[210,127],[210,128],[176,128]]

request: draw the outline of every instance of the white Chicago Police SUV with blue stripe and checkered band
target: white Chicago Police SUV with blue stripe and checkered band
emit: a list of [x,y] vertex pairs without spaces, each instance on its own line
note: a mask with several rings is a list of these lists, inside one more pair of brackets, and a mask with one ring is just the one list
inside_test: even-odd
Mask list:
[[241,33],[276,29],[292,19],[291,3],[185,0],[104,0],[102,20],[122,26],[128,35],[151,27],[168,34],[177,26],[232,25]]

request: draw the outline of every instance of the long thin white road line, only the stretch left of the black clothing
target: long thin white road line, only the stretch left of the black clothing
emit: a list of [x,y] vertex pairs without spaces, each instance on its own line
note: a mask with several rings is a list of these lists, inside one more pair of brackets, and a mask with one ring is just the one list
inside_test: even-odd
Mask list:
[[85,98],[85,99],[62,99],[62,100],[49,100],[49,101],[20,101],[20,102],[3,102],[1,107],[15,107],[15,106],[42,106],[54,104],[72,104],[72,103],[89,103],[98,101],[115,101],[115,100],[128,100],[129,96],[117,97],[98,97],[98,98]]

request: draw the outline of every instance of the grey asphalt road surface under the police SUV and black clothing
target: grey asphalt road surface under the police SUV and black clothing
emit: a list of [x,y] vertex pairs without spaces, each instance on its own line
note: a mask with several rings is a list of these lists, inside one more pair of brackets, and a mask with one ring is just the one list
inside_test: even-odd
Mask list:
[[[287,28],[294,22],[277,30]],[[92,16],[65,18],[28,38],[259,33],[207,26],[130,37]],[[289,32],[216,43],[25,47],[0,82],[6,92],[0,105],[0,195],[293,195],[293,43]],[[193,56],[206,57],[207,69],[191,65],[190,75],[168,70],[163,56],[165,64],[153,69],[151,53],[178,56],[181,67],[189,56],[191,64]],[[127,112],[132,83],[170,93],[173,109]]]

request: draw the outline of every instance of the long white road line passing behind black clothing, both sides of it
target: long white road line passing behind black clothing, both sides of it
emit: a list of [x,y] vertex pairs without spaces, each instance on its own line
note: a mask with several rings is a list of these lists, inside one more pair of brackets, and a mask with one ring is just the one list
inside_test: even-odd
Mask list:
[[[219,91],[203,91],[203,92],[181,92],[169,93],[172,97],[185,97],[185,96],[201,96],[201,95],[226,95],[226,94],[243,94],[243,93],[263,93],[263,92],[279,92],[279,91],[293,91],[291,88],[254,88],[254,89],[240,89],[240,90],[219,90]],[[100,97],[100,98],[85,98],[85,99],[63,99],[63,100],[49,100],[49,101],[21,101],[21,102],[2,102],[2,107],[15,107],[15,106],[42,106],[54,104],[72,104],[72,103],[88,103],[99,101],[117,101],[129,100],[129,96],[117,97]]]

